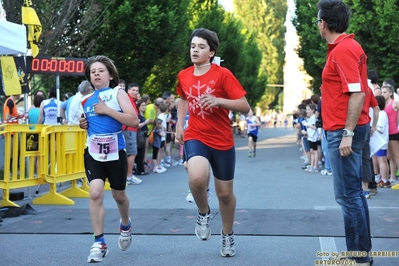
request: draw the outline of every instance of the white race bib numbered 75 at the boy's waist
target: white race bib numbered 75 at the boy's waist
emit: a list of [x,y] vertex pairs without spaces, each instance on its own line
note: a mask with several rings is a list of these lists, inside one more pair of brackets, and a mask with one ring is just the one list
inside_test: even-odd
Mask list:
[[119,160],[118,134],[91,135],[89,153],[94,160],[99,162]]

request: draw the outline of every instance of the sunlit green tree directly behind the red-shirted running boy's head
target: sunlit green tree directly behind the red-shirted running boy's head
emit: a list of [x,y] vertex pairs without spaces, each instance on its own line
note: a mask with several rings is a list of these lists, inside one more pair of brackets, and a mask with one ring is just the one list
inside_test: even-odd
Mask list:
[[223,60],[221,65],[240,81],[247,91],[248,102],[256,104],[264,92],[266,78],[259,75],[262,56],[254,34],[234,15],[226,12],[217,0],[192,1],[189,14],[190,30],[203,27],[218,34],[220,47],[217,56]]

